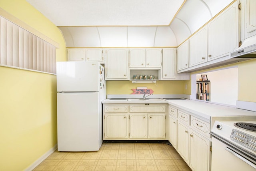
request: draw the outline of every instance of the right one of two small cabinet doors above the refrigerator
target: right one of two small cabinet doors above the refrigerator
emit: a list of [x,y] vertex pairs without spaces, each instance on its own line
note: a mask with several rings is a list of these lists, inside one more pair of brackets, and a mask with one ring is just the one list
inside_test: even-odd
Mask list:
[[93,49],[85,49],[85,61],[103,61],[103,49],[102,48],[93,48]]

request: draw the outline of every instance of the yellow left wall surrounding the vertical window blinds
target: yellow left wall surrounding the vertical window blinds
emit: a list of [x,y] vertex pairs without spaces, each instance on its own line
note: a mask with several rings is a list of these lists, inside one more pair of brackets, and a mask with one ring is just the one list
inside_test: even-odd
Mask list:
[[[65,61],[60,30],[26,0],[0,8],[57,42]],[[56,76],[0,66],[0,118],[0,171],[24,170],[57,143]]]

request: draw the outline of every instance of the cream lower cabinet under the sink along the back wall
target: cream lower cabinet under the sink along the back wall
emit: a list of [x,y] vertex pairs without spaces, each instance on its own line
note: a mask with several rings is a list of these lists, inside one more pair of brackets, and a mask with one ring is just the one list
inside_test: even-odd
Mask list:
[[[166,140],[166,105],[104,104],[104,140]],[[129,109],[129,110],[128,110]],[[168,131],[167,131],[168,132]]]

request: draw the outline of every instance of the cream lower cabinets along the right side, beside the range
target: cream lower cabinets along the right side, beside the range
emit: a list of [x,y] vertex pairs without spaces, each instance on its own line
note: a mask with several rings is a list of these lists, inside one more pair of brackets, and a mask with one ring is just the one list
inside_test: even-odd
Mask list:
[[[171,121],[169,121],[169,126]],[[178,110],[176,150],[193,171],[210,171],[211,139],[209,132],[209,123]]]

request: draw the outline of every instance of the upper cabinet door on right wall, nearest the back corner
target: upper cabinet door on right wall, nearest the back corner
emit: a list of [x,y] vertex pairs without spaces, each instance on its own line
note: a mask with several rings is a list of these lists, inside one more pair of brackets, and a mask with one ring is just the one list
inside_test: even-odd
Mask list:
[[177,70],[184,70],[188,68],[189,58],[189,40],[184,42],[177,48]]

